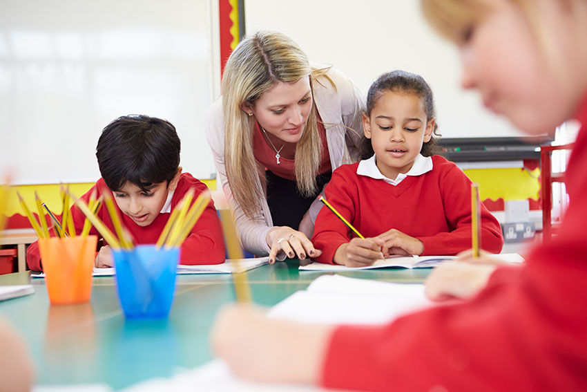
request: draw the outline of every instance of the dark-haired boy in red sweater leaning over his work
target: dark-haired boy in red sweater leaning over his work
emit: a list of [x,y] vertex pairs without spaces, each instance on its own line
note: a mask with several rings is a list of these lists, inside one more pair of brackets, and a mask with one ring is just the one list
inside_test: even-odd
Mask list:
[[[96,198],[104,192],[111,192],[117,213],[133,242],[156,243],[171,211],[186,192],[194,189],[195,200],[208,189],[191,174],[182,173],[180,147],[175,127],[166,120],[146,115],[117,118],[104,128],[98,140],[96,157],[102,178],[81,199],[88,203],[93,192],[96,192]],[[71,207],[71,213],[76,230],[81,232],[86,217],[75,205]],[[102,206],[97,216],[114,231],[106,207]],[[99,236],[94,227],[90,234]],[[29,246],[26,259],[31,270],[43,269],[38,243]],[[182,243],[180,263],[218,264],[223,261],[224,237],[211,201]],[[104,243],[96,256],[95,266],[107,268],[112,265],[110,247]]]

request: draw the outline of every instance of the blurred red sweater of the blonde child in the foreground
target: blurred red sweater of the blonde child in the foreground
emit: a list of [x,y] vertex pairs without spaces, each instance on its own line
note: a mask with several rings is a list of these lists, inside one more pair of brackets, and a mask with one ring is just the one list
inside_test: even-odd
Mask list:
[[341,326],[322,384],[394,391],[582,391],[587,386],[587,100],[559,236],[499,268],[472,301],[374,327]]

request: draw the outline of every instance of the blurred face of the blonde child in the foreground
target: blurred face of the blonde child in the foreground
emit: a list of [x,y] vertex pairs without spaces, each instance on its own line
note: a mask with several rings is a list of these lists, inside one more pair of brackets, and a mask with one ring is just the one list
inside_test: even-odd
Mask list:
[[[558,3],[536,0],[539,15],[548,15],[541,28],[554,44],[555,57],[565,50]],[[508,0],[488,4],[492,10],[471,26],[460,44],[463,87],[477,88],[488,109],[506,115],[526,133],[553,131],[572,115],[577,88],[566,71],[553,68],[559,62],[548,60],[519,8]]]

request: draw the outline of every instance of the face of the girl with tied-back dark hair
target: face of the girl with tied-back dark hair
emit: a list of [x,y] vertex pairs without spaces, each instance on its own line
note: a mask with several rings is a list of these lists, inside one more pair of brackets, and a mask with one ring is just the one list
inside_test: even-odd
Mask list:
[[384,91],[371,115],[363,114],[363,131],[371,139],[379,171],[394,180],[414,165],[423,142],[432,137],[434,119],[427,121],[423,100],[411,93]]

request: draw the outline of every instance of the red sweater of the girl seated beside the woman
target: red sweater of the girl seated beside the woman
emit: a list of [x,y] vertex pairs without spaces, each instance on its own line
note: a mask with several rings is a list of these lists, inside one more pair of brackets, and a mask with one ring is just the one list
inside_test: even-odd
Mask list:
[[[424,244],[423,254],[457,254],[471,248],[471,181],[453,162],[432,157],[432,170],[407,176],[398,185],[356,173],[358,163],[343,165],[325,188],[326,199],[365,237],[397,229]],[[354,235],[354,234],[353,234]],[[351,239],[345,224],[320,209],[312,242],[322,263]],[[503,246],[497,219],[481,205],[481,248],[499,253]]]

